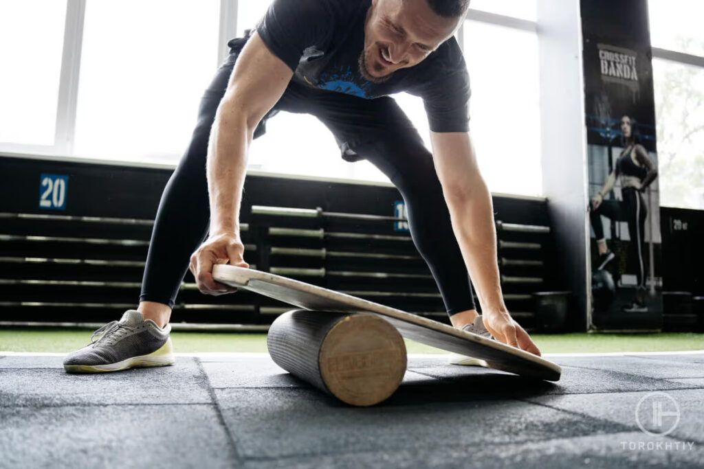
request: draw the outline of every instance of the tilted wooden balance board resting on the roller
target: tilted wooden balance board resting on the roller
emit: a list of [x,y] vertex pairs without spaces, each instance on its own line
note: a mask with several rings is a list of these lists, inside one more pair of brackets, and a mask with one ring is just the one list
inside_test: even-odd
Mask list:
[[557,364],[497,340],[291,278],[227,264],[213,266],[213,278],[225,285],[244,288],[310,311],[373,314],[389,321],[404,338],[471,356],[482,361],[480,364],[486,368],[548,381],[559,380],[562,373]]

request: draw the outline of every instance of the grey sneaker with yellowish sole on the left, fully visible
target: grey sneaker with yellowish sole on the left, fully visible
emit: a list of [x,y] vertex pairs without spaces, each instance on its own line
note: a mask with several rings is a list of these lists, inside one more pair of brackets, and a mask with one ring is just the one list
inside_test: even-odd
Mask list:
[[[63,361],[69,373],[100,373],[132,367],[172,365],[171,325],[160,328],[139,311],[130,309],[120,321],[96,330],[91,343],[70,353]],[[96,336],[100,336],[96,340]]]

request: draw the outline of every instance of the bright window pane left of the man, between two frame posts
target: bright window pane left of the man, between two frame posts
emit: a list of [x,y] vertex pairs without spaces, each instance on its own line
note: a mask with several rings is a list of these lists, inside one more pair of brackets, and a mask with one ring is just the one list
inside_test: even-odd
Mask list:
[[75,155],[176,162],[218,65],[215,0],[88,1]]

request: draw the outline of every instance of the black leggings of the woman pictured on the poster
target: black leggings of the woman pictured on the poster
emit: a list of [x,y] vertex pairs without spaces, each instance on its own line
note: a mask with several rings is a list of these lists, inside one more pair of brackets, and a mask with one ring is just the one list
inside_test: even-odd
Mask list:
[[629,271],[636,271],[638,286],[646,285],[646,257],[644,256],[646,217],[648,208],[643,200],[643,194],[636,188],[627,187],[621,191],[623,200],[604,200],[597,210],[591,210],[589,219],[594,229],[596,240],[604,239],[604,227],[601,215],[612,221],[627,221],[628,233],[631,238],[629,243],[628,262]]

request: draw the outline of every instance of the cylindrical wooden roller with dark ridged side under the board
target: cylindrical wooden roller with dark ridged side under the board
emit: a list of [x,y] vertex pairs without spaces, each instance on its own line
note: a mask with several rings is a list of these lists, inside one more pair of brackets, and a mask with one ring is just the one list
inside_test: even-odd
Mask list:
[[354,406],[388,398],[406,373],[401,334],[372,314],[288,311],[272,323],[267,347],[284,370]]

